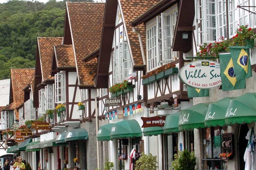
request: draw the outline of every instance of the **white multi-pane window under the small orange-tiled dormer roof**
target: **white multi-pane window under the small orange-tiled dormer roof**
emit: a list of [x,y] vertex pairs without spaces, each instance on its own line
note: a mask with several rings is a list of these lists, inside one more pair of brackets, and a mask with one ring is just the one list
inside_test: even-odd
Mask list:
[[55,74],[55,102],[65,103],[65,73]]

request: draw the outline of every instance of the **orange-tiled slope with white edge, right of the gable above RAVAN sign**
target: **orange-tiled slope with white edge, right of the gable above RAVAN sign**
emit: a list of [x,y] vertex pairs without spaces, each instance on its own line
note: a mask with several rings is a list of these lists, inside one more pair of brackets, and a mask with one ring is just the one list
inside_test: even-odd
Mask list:
[[[160,0],[120,0],[121,8],[124,14],[124,20],[126,24],[129,43],[131,46],[131,53],[135,66],[143,65],[142,54],[140,50],[139,37],[137,33],[132,31],[132,27],[129,26],[129,22],[133,21],[141,14],[146,12],[149,8],[156,5]],[[145,25],[140,24],[137,26],[141,34],[143,47],[146,47],[146,31]]]

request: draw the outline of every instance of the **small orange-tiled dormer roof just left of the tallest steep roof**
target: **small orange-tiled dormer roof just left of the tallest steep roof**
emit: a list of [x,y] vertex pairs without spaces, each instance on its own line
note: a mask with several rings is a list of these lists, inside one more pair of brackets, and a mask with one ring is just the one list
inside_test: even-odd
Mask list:
[[57,61],[57,67],[76,66],[72,45],[55,45],[54,53]]

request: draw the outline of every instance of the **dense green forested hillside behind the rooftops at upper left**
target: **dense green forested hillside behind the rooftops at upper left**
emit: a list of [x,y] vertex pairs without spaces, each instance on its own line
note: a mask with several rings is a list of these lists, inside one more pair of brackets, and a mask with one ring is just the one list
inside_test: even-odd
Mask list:
[[35,66],[38,36],[63,36],[65,5],[55,0],[0,4],[0,80],[10,78],[11,68]]

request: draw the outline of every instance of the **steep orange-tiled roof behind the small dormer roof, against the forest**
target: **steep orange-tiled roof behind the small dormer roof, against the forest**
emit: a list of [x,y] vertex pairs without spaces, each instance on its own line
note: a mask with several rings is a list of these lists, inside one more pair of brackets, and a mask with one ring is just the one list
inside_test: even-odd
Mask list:
[[42,82],[51,75],[53,46],[62,43],[62,37],[37,37],[42,70]]

